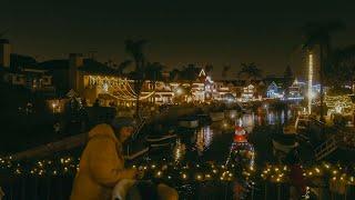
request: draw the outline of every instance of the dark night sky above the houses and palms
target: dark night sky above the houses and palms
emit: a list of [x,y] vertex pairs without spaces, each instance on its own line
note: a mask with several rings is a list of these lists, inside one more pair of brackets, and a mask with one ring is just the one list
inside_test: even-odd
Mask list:
[[302,76],[294,49],[307,21],[339,19],[347,29],[335,34],[335,46],[355,43],[355,2],[212,2],[2,0],[0,30],[9,30],[14,52],[39,60],[98,51],[100,61],[120,62],[128,58],[124,40],[144,38],[150,61],[170,69],[211,63],[215,78],[226,63],[234,78],[241,62],[257,63],[264,74],[282,74],[291,64]]

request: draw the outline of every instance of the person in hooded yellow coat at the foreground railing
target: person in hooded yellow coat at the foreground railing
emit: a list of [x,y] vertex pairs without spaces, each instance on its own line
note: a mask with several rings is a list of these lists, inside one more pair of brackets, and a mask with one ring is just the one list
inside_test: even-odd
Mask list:
[[98,124],[89,132],[89,142],[80,159],[71,200],[110,199],[112,188],[120,180],[135,178],[135,169],[124,168],[122,153],[122,143],[132,134],[133,126],[133,120],[121,118],[115,119],[114,126]]

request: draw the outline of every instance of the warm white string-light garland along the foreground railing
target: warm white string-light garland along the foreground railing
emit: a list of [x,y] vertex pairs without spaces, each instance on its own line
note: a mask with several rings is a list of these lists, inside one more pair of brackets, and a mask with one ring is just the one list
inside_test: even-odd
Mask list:
[[[73,157],[62,157],[53,160],[39,160],[34,162],[14,162],[11,158],[0,158],[0,170],[13,176],[70,176],[79,170],[80,159]],[[236,166],[205,163],[175,163],[163,159],[161,163],[151,162],[149,164],[132,166],[144,171],[144,179],[160,179],[164,182],[203,182],[203,181],[234,181],[242,176],[246,180],[262,178],[270,182],[285,183],[292,181],[290,178],[291,167],[281,164],[268,164],[261,170],[243,169],[236,173]],[[352,173],[348,170],[352,169]],[[323,179],[328,181],[341,181],[345,184],[355,186],[355,169],[323,162],[321,164],[304,167],[304,178],[306,180]],[[261,174],[260,177],[256,174]]]

